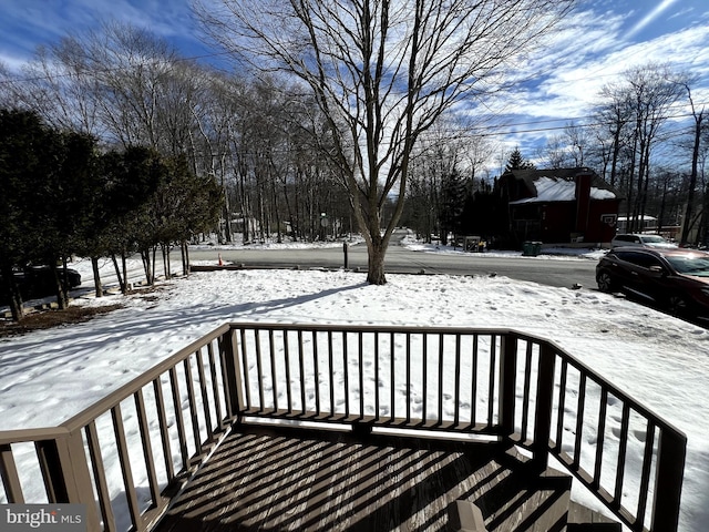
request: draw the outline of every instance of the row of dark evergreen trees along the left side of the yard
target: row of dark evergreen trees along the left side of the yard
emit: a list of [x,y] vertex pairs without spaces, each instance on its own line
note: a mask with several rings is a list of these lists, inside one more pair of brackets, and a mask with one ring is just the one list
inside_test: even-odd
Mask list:
[[96,140],[47,125],[32,111],[0,110],[0,288],[12,317],[23,317],[16,273],[49,266],[60,308],[68,306],[68,264],[90,257],[96,296],[99,260],[110,257],[123,293],[126,258],[140,253],[146,282],[155,256],[212,227],[222,204],[214,180],[197,176],[182,156],[145,146],[102,151]]

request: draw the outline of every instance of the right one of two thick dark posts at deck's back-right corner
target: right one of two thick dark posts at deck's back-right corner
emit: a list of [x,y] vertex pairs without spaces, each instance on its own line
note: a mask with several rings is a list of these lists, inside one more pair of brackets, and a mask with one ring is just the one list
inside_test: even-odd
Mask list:
[[552,432],[552,408],[554,405],[554,366],[556,354],[546,344],[540,345],[540,367],[536,385],[536,407],[534,409],[533,461],[541,470],[546,469]]

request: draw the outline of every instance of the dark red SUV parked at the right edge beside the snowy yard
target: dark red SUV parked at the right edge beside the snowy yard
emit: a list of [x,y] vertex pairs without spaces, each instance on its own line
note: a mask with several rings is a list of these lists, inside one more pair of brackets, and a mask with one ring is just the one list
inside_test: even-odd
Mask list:
[[617,247],[596,266],[602,291],[623,291],[676,316],[709,316],[709,253]]

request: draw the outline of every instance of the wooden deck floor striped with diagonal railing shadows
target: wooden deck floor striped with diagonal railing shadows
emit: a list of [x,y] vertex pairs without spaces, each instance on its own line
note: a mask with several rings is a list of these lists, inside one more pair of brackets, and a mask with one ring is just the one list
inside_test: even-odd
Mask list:
[[444,531],[458,499],[489,532],[563,530],[568,485],[497,444],[239,426],[155,530]]

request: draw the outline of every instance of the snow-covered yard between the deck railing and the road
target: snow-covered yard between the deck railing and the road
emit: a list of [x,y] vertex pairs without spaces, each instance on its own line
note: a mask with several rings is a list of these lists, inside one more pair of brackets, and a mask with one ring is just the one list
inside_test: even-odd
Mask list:
[[[520,257],[559,258],[588,259]],[[90,287],[89,262],[73,267]],[[109,264],[105,272],[110,280]],[[680,530],[707,530],[708,329],[590,287],[505,277],[388,280],[369,286],[362,274],[345,270],[215,272],[130,297],[80,297],[75,305],[124,307],[85,324],[0,340],[0,430],[55,426],[225,321],[510,327],[557,342],[687,433]]]

